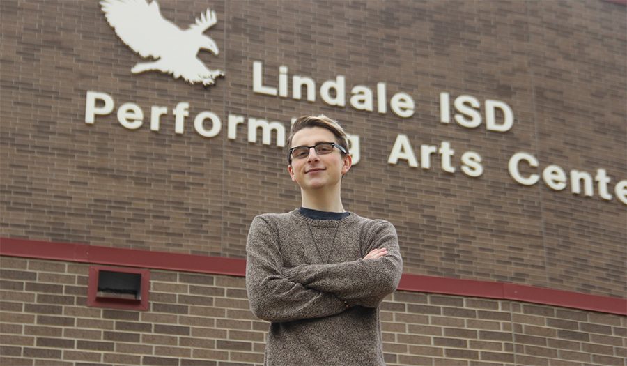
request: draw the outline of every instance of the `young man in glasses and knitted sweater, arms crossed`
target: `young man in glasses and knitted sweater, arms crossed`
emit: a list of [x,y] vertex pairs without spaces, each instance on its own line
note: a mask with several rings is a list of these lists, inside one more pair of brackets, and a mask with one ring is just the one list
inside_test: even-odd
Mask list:
[[252,312],[272,322],[266,365],[385,365],[379,304],[398,287],[394,226],[344,210],[346,134],[326,116],[300,117],[288,172],[302,207],[254,218],[246,287]]

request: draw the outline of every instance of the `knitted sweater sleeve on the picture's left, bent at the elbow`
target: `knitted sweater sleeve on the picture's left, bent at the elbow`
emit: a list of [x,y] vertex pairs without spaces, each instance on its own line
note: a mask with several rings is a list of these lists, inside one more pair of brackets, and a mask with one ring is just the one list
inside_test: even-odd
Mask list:
[[327,317],[346,310],[332,293],[307,289],[281,274],[283,260],[277,231],[254,218],[246,243],[246,289],[251,311],[272,322]]

